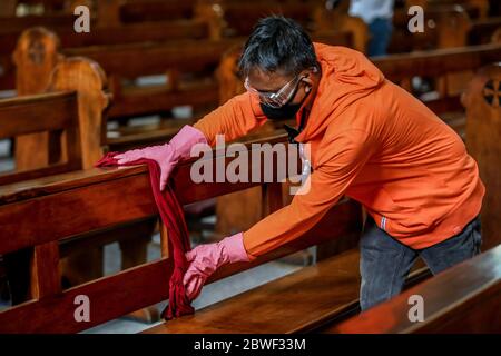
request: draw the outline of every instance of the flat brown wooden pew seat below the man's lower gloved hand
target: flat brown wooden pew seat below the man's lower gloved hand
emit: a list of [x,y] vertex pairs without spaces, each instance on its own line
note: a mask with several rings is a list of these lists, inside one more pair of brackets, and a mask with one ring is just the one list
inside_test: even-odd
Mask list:
[[[326,258],[144,334],[306,333],[358,313],[358,249]],[[407,283],[428,276],[416,264]]]

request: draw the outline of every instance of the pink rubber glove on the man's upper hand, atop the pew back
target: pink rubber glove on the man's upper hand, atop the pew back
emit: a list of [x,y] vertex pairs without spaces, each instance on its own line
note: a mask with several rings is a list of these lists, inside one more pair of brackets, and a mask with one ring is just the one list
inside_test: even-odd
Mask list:
[[127,164],[147,158],[156,160],[160,166],[160,191],[164,190],[167,179],[177,162],[190,157],[191,147],[196,144],[206,144],[207,139],[204,134],[196,128],[185,125],[170,142],[165,145],[146,147],[143,149],[132,149],[124,154],[117,155],[118,164]]

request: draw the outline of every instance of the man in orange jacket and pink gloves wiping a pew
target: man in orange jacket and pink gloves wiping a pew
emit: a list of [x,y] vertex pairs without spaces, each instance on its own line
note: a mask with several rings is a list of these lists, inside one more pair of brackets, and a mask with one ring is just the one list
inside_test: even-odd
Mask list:
[[[310,144],[310,190],[246,231],[187,253],[184,283],[198,296],[218,267],[249,261],[311,229],[346,195],[371,218],[361,238],[361,306],[402,289],[421,256],[433,274],[479,253],[484,187],[459,136],[423,103],[384,79],[362,53],[312,43],[293,20],[261,20],[239,62],[247,92],[186,126],[169,144],[132,150],[161,167],[161,189],[193,145],[246,135],[267,119],[295,117]],[[299,125],[302,123],[302,125]]]

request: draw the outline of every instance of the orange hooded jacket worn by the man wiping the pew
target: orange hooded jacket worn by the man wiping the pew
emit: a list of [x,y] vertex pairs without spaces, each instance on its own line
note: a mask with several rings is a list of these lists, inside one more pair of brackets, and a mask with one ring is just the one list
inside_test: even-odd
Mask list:
[[[362,53],[314,46],[322,78],[296,137],[311,144],[310,191],[244,231],[249,258],[299,237],[343,195],[411,248],[459,234],[480,212],[485,191],[460,137]],[[258,100],[246,92],[195,127],[214,146],[218,134],[229,141],[265,121]]]

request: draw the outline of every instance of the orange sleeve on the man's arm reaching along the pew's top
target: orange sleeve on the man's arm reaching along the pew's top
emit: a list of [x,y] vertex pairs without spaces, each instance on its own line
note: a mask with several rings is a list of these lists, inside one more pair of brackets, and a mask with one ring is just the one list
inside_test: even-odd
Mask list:
[[258,99],[244,92],[203,117],[194,127],[204,134],[210,146],[215,146],[216,135],[225,135],[225,141],[228,142],[265,122],[266,117],[261,110]]

